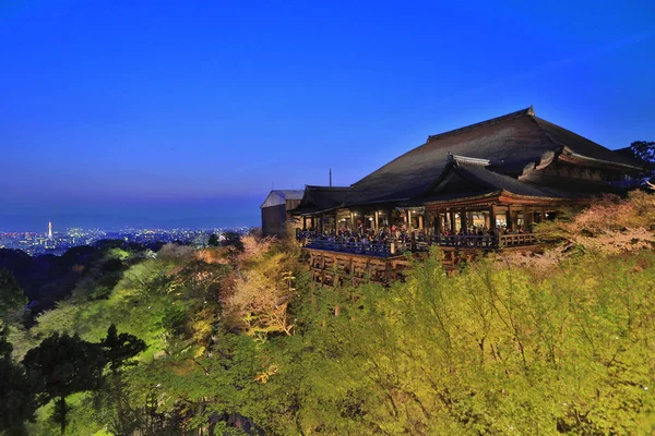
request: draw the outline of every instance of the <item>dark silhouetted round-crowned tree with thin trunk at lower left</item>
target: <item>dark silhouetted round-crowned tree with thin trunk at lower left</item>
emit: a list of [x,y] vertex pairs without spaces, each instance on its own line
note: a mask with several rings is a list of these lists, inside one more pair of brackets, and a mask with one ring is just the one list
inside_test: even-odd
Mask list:
[[55,332],[25,354],[23,365],[35,384],[39,405],[56,399],[52,419],[64,434],[70,411],[66,397],[98,387],[105,355],[99,344]]

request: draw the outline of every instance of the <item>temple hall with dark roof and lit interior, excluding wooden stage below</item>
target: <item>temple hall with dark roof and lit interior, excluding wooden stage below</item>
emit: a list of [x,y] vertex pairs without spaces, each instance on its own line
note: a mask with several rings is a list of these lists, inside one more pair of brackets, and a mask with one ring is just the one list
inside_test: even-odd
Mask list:
[[306,186],[293,211],[334,234],[403,226],[427,238],[463,230],[529,233],[563,207],[619,193],[642,164],[538,118],[529,107],[427,142],[350,186]]

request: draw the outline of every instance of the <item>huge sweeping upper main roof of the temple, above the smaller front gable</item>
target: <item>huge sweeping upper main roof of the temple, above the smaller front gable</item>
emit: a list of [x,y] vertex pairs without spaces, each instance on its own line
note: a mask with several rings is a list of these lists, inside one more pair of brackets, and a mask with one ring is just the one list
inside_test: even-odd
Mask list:
[[616,154],[590,140],[535,116],[532,107],[438,135],[382,168],[352,187],[349,203],[405,201],[437,179],[449,154],[490,159],[500,174],[519,175],[528,164],[541,157],[569,153],[597,159],[619,168],[638,169],[639,162]]

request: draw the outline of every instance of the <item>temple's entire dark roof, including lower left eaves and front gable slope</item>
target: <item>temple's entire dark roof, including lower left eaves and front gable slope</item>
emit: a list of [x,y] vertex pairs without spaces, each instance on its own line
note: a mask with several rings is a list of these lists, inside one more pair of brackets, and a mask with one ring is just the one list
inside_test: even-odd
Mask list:
[[[365,204],[408,202],[425,196],[446,169],[451,155],[489,160],[484,166],[455,166],[460,175],[481,186],[519,195],[565,197],[568,191],[535,186],[516,180],[528,166],[557,154],[600,161],[626,170],[641,167],[630,156],[611,152],[583,136],[537,118],[532,107],[465,128],[428,136],[425,144],[405,153],[338,194],[308,186],[299,209],[324,210]],[[475,184],[475,183],[474,183]],[[583,192],[590,190],[581,186]],[[573,195],[577,195],[574,193]],[[307,202],[306,202],[307,198]],[[303,205],[305,204],[305,205]]]

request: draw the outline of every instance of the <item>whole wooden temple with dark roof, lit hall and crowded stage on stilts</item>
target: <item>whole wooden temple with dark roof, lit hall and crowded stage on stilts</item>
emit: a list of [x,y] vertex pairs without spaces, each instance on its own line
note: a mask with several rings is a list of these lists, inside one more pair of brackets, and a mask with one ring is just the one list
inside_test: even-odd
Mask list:
[[467,252],[532,250],[535,223],[624,192],[641,172],[531,107],[428,136],[350,186],[308,185],[291,214],[317,281],[389,282],[401,253],[432,244],[453,265]]

